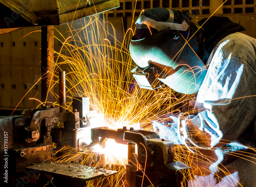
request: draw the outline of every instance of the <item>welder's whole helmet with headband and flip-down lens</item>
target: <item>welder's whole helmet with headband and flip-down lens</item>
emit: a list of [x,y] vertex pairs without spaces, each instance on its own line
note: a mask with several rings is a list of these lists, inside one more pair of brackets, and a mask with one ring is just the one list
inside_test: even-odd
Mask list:
[[[198,92],[206,68],[197,55],[198,37],[190,17],[178,10],[149,9],[136,21],[130,54],[138,65],[132,72],[141,88],[161,84],[182,94]],[[189,39],[188,43],[187,40]]]

